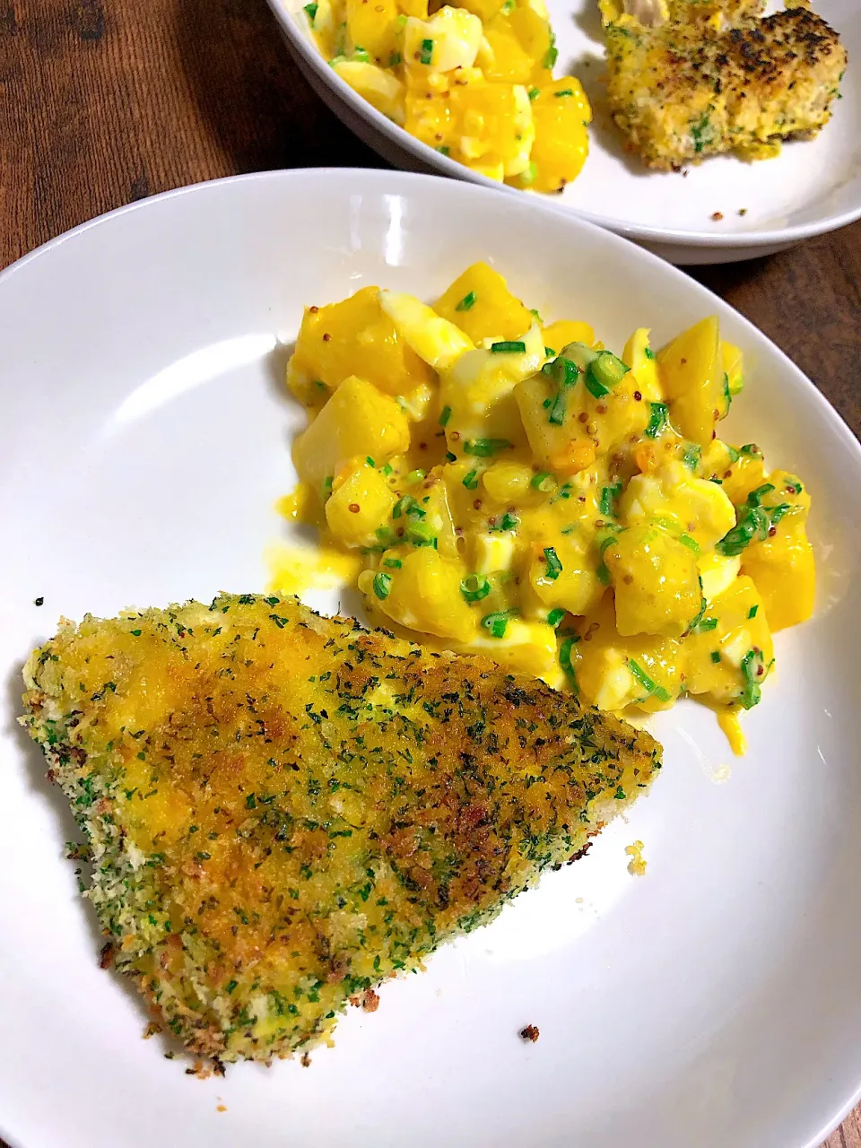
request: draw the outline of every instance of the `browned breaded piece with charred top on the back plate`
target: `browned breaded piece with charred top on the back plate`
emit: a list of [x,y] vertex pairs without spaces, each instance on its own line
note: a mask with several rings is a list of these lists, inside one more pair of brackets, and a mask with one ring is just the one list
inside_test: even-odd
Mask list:
[[607,99],[631,150],[672,170],[708,155],[776,154],[831,118],[846,51],[824,20],[791,8],[718,32],[703,23],[611,24]]

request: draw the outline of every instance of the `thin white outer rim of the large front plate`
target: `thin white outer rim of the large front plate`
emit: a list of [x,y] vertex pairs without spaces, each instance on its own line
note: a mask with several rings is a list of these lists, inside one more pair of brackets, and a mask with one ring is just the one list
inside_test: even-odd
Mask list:
[[[195,196],[201,194],[208,194],[211,192],[216,193],[222,185],[233,186],[233,185],[250,185],[256,187],[263,184],[279,184],[279,183],[292,183],[292,181],[309,181],[325,180],[325,179],[338,179],[339,181],[364,181],[365,187],[356,188],[357,191],[377,191],[383,189],[391,194],[409,194],[411,185],[426,184],[428,180],[434,183],[440,183],[443,177],[422,174],[409,171],[388,171],[385,169],[365,169],[365,168],[295,168],[295,169],[276,169],[262,172],[249,172],[236,176],[227,176],[220,179],[205,180],[197,184],[186,185],[184,187],[172,188],[162,192],[158,195],[149,196],[144,200],[139,200],[132,203],[123,204],[111,211],[104,212],[92,219],[85,220],[84,223],[70,228],[67,232],[46,241],[33,250],[26,253],[24,256],[9,264],[2,271],[0,271],[0,298],[5,290],[14,290],[14,281],[16,272],[23,270],[31,263],[40,261],[44,256],[49,255],[55,249],[59,249],[69,240],[76,239],[79,235],[88,232],[91,228],[101,227],[102,225],[110,224],[114,219],[119,219],[127,215],[132,215],[139,211],[147,211],[153,209],[156,204],[162,201],[170,201],[173,199],[180,199],[186,196]],[[395,185],[395,186],[393,186]],[[402,185],[402,186],[397,186]],[[473,189],[474,188],[474,189]],[[444,192],[440,188],[441,194],[452,193],[455,195],[465,194],[467,196],[476,196],[478,199],[487,199],[488,196],[506,196],[507,192],[497,185],[490,184],[488,187],[476,186],[470,180],[460,180],[458,185],[451,186],[449,192]],[[253,194],[253,193],[249,193]],[[607,231],[604,227],[592,223],[589,219],[584,219],[574,212],[554,212],[560,216],[559,226],[561,228],[573,228],[577,231],[580,228],[585,228],[587,231],[599,231],[602,234],[602,242],[612,245],[625,245],[626,247],[631,247],[629,241],[625,238]],[[566,220],[567,222],[564,222]],[[670,278],[682,278],[689,290],[693,294],[699,295],[705,298],[716,300],[720,304],[721,310],[727,310],[732,313],[735,319],[737,319],[745,329],[754,335],[757,339],[765,340],[768,343],[769,350],[777,356],[776,362],[784,371],[790,371],[799,383],[802,383],[812,398],[819,404],[819,408],[830,428],[833,433],[838,435],[840,440],[846,444],[846,447],[856,456],[859,463],[861,464],[861,442],[856,439],[850,426],[846,424],[840,413],[832,406],[823,393],[815,386],[812,379],[809,379],[799,366],[797,366],[792,359],[771,340],[765,332],[755,326],[750,319],[742,315],[736,308],[724,300],[720,298],[709,288],[703,286],[697,280],[693,280],[689,274],[672,264],[666,263],[659,256],[652,254],[643,248],[637,248],[636,251],[629,251],[629,255],[635,261],[645,261],[646,264],[652,263],[653,266],[660,266],[660,273],[662,276],[669,276]],[[653,261],[653,262],[652,262]],[[861,1079],[858,1081],[852,1094],[846,1097],[840,1104],[839,1109],[830,1117],[821,1131],[815,1135],[807,1139],[801,1148],[820,1148],[822,1142],[827,1137],[835,1131],[846,1118],[846,1116],[861,1102]],[[0,1117],[0,1120],[2,1118]],[[0,1134],[5,1135],[10,1143],[20,1143],[22,1148],[25,1148],[23,1142],[18,1141],[17,1138],[8,1132],[3,1127],[5,1122],[0,1123]]]

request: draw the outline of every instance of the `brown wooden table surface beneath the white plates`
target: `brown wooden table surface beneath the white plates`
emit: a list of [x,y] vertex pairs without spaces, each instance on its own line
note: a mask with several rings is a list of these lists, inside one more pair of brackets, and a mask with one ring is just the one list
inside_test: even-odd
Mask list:
[[[385,164],[308,88],[264,0],[0,0],[0,267],[165,188],[315,165]],[[861,224],[695,277],[861,435]],[[861,1108],[827,1145],[861,1148]]]

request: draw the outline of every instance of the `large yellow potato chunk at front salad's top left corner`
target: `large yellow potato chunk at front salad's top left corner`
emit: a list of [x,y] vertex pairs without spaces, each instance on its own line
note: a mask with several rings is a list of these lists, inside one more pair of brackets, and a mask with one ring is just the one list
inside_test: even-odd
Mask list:
[[317,383],[333,390],[349,375],[404,395],[433,375],[380,307],[379,288],[363,287],[328,307],[305,308],[287,383],[300,402],[313,402]]

